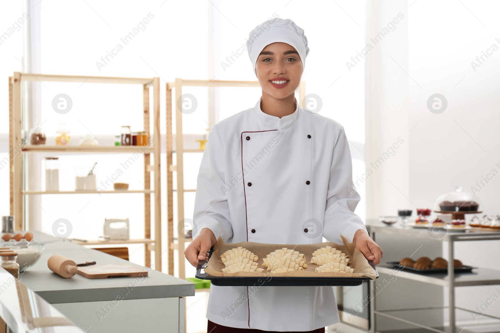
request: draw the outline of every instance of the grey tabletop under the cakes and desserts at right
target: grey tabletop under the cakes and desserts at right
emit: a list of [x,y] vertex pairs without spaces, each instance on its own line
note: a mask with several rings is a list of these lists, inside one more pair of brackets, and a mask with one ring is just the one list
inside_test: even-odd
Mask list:
[[383,233],[388,235],[404,236],[411,238],[435,239],[438,241],[466,241],[472,238],[477,239],[500,239],[500,230],[482,231],[478,229],[453,229],[453,228],[436,228],[428,225],[427,228],[414,228],[409,225],[413,224],[410,218],[408,225],[402,225],[400,221],[392,225],[386,225],[376,219],[366,220],[366,229],[368,232]]

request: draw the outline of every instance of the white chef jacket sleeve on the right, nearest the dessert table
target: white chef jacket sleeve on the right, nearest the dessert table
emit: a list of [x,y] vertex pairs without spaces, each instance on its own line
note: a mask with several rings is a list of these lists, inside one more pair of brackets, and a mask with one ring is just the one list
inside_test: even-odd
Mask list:
[[323,237],[342,244],[340,235],[352,242],[357,230],[366,232],[361,218],[354,214],[360,200],[352,186],[352,161],[343,126],[333,147],[324,212]]

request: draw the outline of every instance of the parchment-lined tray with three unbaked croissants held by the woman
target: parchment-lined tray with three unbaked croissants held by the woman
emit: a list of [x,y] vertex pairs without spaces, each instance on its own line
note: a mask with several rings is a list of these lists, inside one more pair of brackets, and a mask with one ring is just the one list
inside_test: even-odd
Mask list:
[[224,243],[219,237],[195,277],[215,286],[358,286],[378,273],[355,244]]

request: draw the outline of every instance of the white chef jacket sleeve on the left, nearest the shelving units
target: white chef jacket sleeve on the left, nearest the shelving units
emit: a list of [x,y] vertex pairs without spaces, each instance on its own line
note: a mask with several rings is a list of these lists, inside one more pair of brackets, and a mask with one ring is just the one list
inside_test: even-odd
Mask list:
[[215,239],[222,237],[228,243],[232,237],[229,206],[222,188],[225,188],[223,146],[216,125],[208,134],[196,181],[193,212],[193,239],[203,228],[210,229]]

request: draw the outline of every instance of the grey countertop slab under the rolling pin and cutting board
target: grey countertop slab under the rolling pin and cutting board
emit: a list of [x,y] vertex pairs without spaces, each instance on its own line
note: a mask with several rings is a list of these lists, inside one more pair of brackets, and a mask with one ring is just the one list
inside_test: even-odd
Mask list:
[[[33,232],[33,241],[40,242],[57,238]],[[41,258],[20,275],[20,281],[50,304],[112,300],[135,300],[149,298],[183,297],[194,295],[194,284],[173,276],[149,269],[146,278],[87,279],[78,274],[64,279],[50,271],[47,260],[58,254],[76,263],[95,261],[97,264],[129,264],[146,270],[129,261],[92,250],[69,241],[47,244]]]

